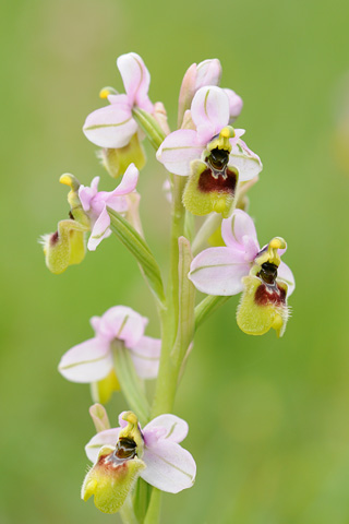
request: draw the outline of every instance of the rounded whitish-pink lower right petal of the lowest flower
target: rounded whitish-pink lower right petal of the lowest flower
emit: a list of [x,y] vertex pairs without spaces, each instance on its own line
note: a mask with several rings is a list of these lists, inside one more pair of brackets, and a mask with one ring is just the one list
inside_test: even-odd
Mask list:
[[143,461],[146,468],[141,477],[161,491],[178,493],[191,488],[195,480],[196,464],[189,451],[169,440],[159,440],[145,448]]

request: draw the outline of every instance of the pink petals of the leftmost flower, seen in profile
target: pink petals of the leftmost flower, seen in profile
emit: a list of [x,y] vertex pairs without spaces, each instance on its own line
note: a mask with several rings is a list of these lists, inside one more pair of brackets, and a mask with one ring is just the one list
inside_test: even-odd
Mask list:
[[139,170],[134,164],[130,164],[121,182],[113,191],[98,191],[99,177],[95,177],[91,187],[80,186],[79,198],[84,212],[91,219],[92,233],[87,248],[95,251],[104,238],[111,235],[110,216],[107,206],[118,213],[128,211],[125,195],[135,190],[139,181]]

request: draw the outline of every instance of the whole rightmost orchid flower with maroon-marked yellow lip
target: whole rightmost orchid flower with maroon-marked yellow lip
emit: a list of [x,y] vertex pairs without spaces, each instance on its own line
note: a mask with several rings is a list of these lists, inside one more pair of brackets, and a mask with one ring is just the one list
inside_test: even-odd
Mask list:
[[294,290],[292,272],[280,260],[285,240],[276,237],[261,250],[253,221],[241,210],[222,221],[221,236],[226,246],[198,253],[189,278],[207,295],[243,291],[238,325],[245,333],[261,335],[274,327],[282,335],[289,315],[287,298]]

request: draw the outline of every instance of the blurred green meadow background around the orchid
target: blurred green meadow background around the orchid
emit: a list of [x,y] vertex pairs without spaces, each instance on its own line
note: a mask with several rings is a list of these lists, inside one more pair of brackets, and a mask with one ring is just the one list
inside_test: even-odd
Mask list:
[[[57,365],[92,335],[93,314],[124,303],[158,335],[155,308],[117,239],[55,276],[37,238],[67,215],[62,172],[113,186],[81,128],[100,87],[121,88],[115,61],[128,51],[144,58],[172,126],[185,69],[220,59],[264,163],[250,209],[260,241],[284,236],[297,278],[282,340],[239,332],[237,297],[200,331],[176,405],[197,480],[164,498],[161,522],[348,523],[349,180],[335,156],[346,145],[348,2],[31,0],[1,11],[1,524],[118,522],[80,500],[89,392]],[[164,264],[163,181],[151,159],[142,216]],[[115,422],[125,407],[121,395],[110,404]]]

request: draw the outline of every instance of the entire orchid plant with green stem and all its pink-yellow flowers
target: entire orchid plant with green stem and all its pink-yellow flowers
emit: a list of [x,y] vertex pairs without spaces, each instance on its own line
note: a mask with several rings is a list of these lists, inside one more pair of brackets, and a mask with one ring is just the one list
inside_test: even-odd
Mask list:
[[[124,523],[151,524],[158,522],[160,491],[176,493],[195,479],[195,462],[180,445],[188,425],[171,414],[195,330],[228,297],[241,294],[239,327],[252,335],[273,327],[281,336],[294,278],[281,261],[286,241],[274,237],[261,248],[246,213],[246,193],[258,180],[262,162],[242,140],[245,131],[232,127],[242,99],[219,87],[219,60],[194,63],[186,71],[179,129],[172,132],[164,105],[148,97],[151,75],[142,58],[130,52],[117,64],[125,94],[103,88],[100,97],[109,105],[88,115],[83,131],[99,147],[109,175],[121,181],[107,192],[98,190],[98,176],[88,187],[62,175],[60,182],[70,188],[69,218],[41,242],[48,269],[60,274],[115,234],[135,257],[154,295],[161,338],[144,334],[145,317],[113,306],[91,319],[94,336],[68,350],[59,364],[68,380],[91,384],[95,402],[89,413],[97,434],[86,445],[94,465],[82,498],[94,496],[105,513],[120,511]],[[168,171],[164,187],[172,224],[167,288],[139,213],[145,139]],[[207,296],[195,306],[196,289]],[[152,379],[157,382],[151,405],[144,380]],[[132,410],[123,412],[119,427],[110,429],[103,404],[120,390]],[[145,490],[142,483],[157,489]]]

